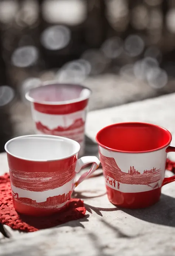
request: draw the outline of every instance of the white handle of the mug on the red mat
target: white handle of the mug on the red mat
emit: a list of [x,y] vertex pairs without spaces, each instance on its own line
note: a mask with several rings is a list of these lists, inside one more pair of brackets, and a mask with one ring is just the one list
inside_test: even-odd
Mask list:
[[85,173],[83,173],[80,178],[78,179],[78,181],[76,181],[73,184],[72,187],[72,192],[73,190],[84,180],[86,180],[87,178],[89,178],[89,176],[99,167],[100,165],[100,160],[95,157],[95,156],[85,156],[85,157],[81,157],[77,160],[76,162],[76,167],[75,167],[75,172],[79,173],[79,171],[83,168],[83,166],[85,166],[86,164],[93,164],[92,167],[90,168],[89,171],[86,171]]

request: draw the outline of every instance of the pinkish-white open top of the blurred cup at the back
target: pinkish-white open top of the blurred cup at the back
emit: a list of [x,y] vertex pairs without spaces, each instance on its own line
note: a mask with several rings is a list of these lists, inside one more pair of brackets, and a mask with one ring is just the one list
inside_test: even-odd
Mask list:
[[42,104],[65,104],[88,99],[90,93],[82,85],[53,83],[32,88],[26,93],[26,98]]

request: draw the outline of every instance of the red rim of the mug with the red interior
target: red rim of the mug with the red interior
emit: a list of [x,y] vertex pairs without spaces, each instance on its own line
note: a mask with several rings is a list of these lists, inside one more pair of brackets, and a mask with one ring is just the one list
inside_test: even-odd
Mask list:
[[[105,130],[106,128],[113,127],[113,126],[117,126],[117,125],[119,125],[119,124],[145,124],[145,125],[157,127],[157,128],[160,128],[161,130],[164,130],[164,132],[168,134],[169,140],[168,140],[168,142],[167,142],[165,145],[163,145],[163,146],[161,146],[161,147],[158,147],[158,148],[156,148],[156,149],[151,149],[151,150],[144,150],[144,151],[125,151],[125,150],[112,149],[112,148],[107,147],[107,146],[105,146],[105,145],[103,145],[102,143],[99,142],[98,136],[99,136],[100,132],[102,132],[102,131]],[[120,152],[120,153],[130,153],[130,154],[135,154],[135,153],[137,153],[137,154],[139,154],[139,153],[154,152],[154,151],[158,151],[158,150],[164,149],[165,147],[168,147],[169,144],[171,143],[172,135],[171,135],[171,133],[170,133],[166,128],[164,128],[164,127],[162,127],[162,126],[159,126],[159,125],[157,125],[157,124],[144,123],[144,122],[122,122],[122,123],[110,124],[110,125],[108,125],[108,126],[103,127],[101,130],[99,130],[99,132],[97,132],[95,139],[96,139],[98,145],[101,146],[101,147],[103,147],[103,149],[110,150],[110,151],[114,151],[114,152]]]

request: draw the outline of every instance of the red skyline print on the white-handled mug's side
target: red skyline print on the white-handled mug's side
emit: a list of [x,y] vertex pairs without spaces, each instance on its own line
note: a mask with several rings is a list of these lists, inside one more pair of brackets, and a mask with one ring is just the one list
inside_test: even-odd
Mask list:
[[63,165],[54,172],[38,173],[10,168],[14,201],[46,211],[51,208],[62,208],[71,198],[69,188],[75,177],[75,165],[76,161],[71,166]]

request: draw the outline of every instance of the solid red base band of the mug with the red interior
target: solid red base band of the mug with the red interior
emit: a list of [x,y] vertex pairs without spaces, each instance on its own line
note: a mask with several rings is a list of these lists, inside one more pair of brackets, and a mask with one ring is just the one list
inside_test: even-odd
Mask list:
[[109,201],[120,208],[139,209],[151,206],[159,201],[161,188],[155,190],[138,192],[138,193],[123,193],[106,186],[107,196]]

